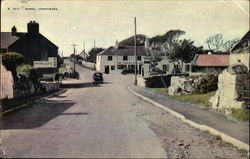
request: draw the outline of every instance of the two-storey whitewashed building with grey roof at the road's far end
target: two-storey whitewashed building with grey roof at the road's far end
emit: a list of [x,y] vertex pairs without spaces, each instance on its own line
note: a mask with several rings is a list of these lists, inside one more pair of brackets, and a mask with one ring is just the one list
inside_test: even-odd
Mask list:
[[[147,55],[144,46],[137,46],[137,67],[139,74],[143,65],[142,59]],[[104,73],[121,72],[124,68],[134,68],[135,56],[133,46],[111,46],[97,54],[96,71]]]

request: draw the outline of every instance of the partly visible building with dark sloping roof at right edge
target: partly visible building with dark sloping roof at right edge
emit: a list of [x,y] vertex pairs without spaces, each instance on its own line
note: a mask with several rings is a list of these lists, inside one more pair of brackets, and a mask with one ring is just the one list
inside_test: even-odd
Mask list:
[[250,30],[232,48],[229,63],[243,63],[250,70]]

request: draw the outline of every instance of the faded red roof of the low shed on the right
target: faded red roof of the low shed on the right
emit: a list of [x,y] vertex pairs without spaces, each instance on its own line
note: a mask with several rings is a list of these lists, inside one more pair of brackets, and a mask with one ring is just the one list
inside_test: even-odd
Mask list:
[[200,54],[196,56],[196,66],[228,66],[230,55]]

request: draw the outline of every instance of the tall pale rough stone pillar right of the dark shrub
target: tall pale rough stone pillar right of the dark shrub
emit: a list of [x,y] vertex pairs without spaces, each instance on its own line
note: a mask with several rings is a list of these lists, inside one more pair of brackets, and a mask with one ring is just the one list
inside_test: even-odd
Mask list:
[[236,81],[237,74],[231,74],[227,70],[219,74],[218,90],[209,100],[213,109],[227,110],[243,107],[244,102],[237,101]]

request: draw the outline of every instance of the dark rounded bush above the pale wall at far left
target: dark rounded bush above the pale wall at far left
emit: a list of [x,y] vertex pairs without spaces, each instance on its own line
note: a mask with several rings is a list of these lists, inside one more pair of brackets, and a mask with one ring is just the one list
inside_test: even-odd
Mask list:
[[17,78],[16,67],[23,63],[23,55],[16,52],[7,52],[3,54],[3,64],[7,70],[11,71],[14,81]]

